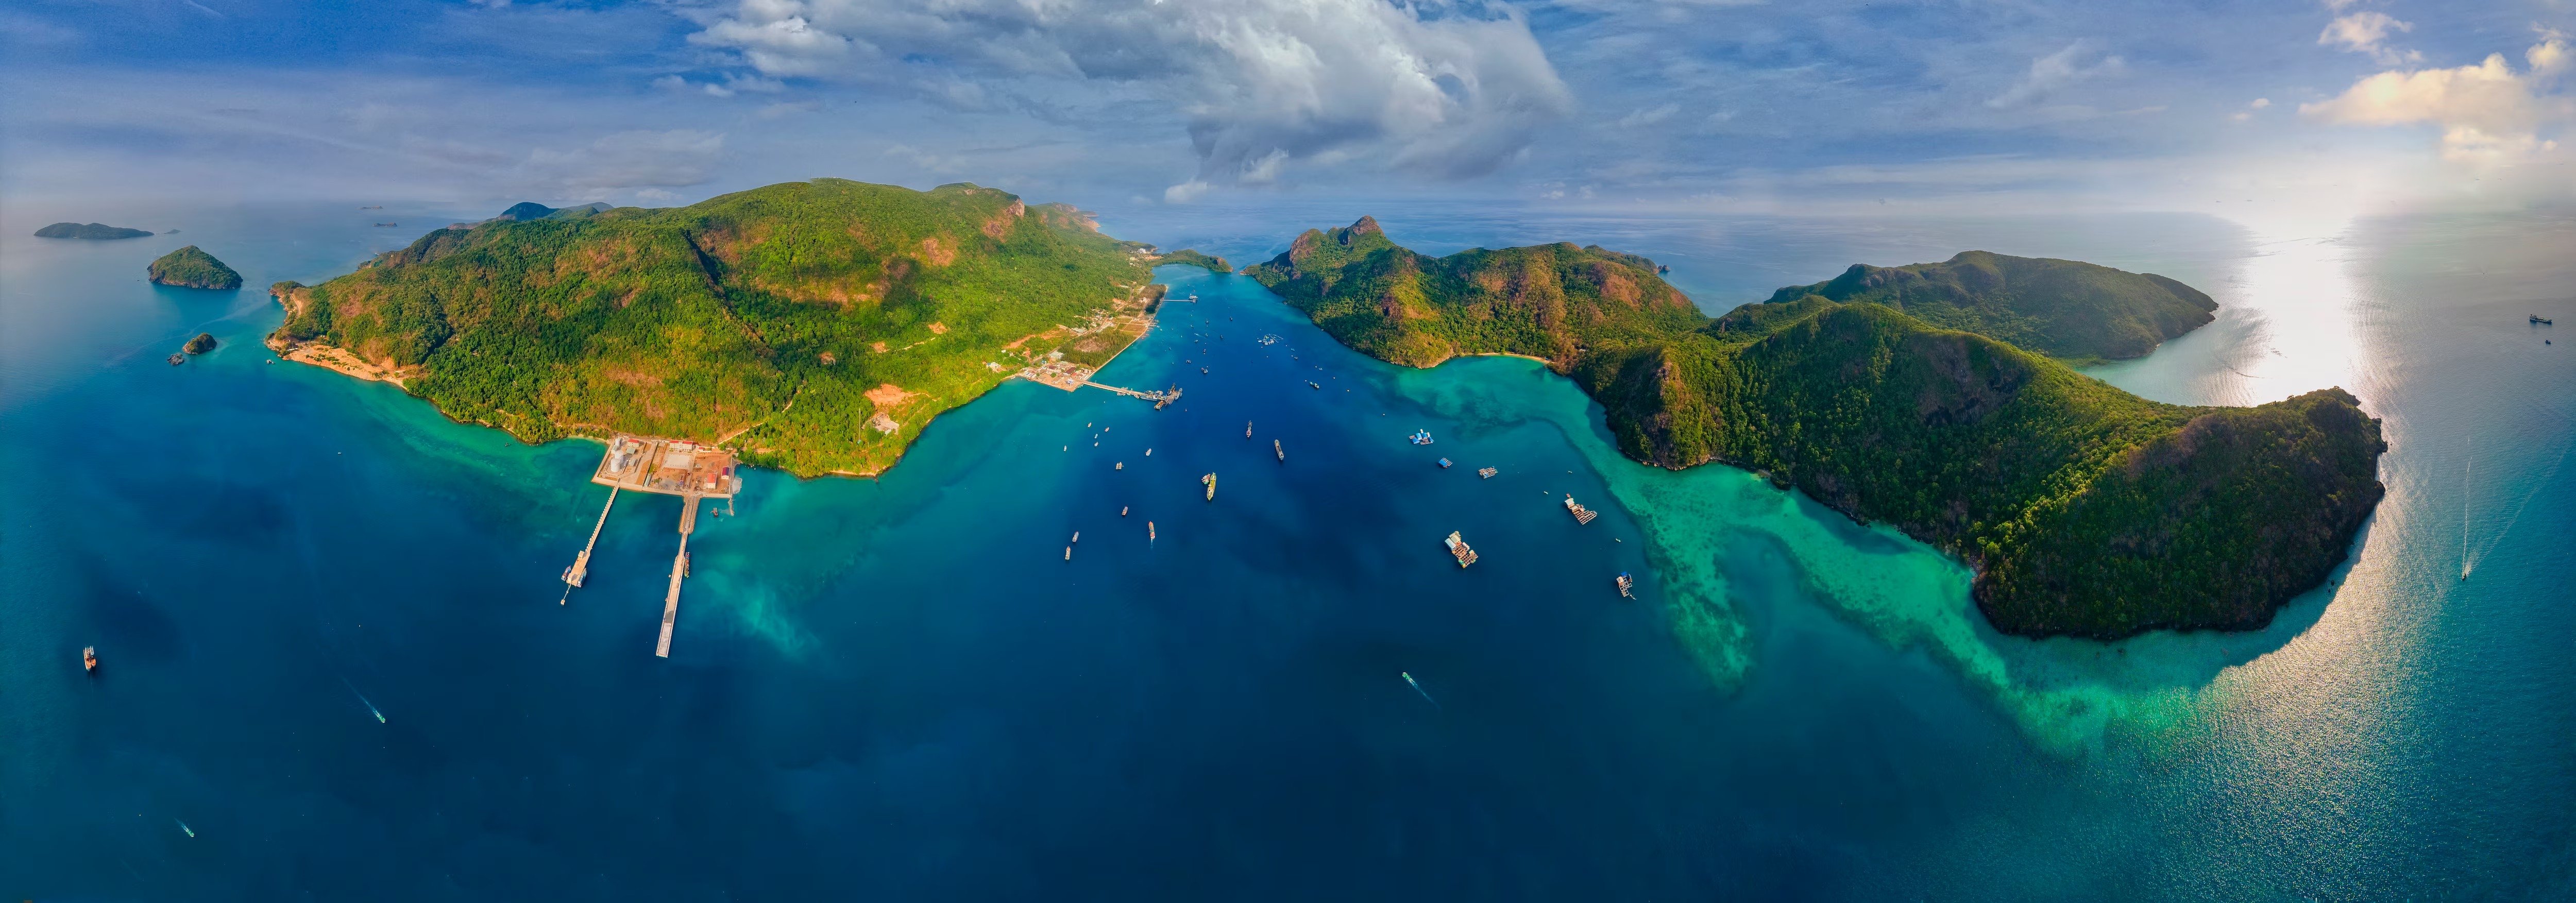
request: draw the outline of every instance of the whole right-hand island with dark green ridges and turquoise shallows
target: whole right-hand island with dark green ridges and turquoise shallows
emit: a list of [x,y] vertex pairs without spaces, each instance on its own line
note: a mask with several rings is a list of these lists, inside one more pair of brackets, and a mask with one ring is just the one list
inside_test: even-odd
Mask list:
[[1574,244],[1427,257],[1363,216],[1244,275],[1388,363],[1546,360],[1625,455],[1731,463],[1896,525],[1963,558],[2014,635],[2262,628],[2385,494],[2380,422],[2342,388],[2161,404],[1989,334],[2143,352],[2190,329],[2184,306],[2208,322],[2208,298],[2166,278],[1976,252],[1708,316],[1659,270]]

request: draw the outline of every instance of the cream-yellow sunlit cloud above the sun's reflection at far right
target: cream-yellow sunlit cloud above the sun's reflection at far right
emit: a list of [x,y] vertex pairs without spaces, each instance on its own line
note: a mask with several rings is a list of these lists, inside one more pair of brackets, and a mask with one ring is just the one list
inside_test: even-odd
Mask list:
[[2566,116],[2566,100],[2545,98],[2543,80],[2568,64],[2563,39],[2548,39],[2522,54],[2530,72],[2514,72],[2504,54],[2452,69],[2380,72],[2347,87],[2334,100],[2300,103],[2303,116],[2354,126],[2434,123],[2442,129],[2442,157],[2483,162],[2519,157],[2540,141],[2540,126]]

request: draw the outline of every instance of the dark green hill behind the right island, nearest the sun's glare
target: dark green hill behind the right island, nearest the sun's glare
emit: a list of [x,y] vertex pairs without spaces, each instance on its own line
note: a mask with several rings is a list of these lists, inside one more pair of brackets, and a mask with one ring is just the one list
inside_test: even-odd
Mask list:
[[1790,286],[1772,304],[1824,296],[1875,301],[1945,329],[1996,337],[2069,360],[2138,358],[2200,329],[2218,301],[2154,273],[2092,262],[1960,252],[1945,262],[1873,268],[1855,262],[1816,286]]

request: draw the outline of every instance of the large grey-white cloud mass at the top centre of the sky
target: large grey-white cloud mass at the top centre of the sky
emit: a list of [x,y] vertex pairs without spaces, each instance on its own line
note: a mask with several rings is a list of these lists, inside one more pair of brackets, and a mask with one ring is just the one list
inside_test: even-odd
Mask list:
[[[1198,152],[1172,201],[1358,154],[1481,175],[1571,111],[1522,13],[1484,0],[737,0],[690,41],[768,77],[876,80],[956,108],[1010,85],[1139,87]],[[904,75],[917,59],[953,80]]]

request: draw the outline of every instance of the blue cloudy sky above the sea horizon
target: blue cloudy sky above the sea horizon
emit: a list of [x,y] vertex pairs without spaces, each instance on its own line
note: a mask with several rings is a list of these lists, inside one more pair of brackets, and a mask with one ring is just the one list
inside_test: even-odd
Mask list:
[[10,0],[0,201],[2576,198],[2576,0]]

